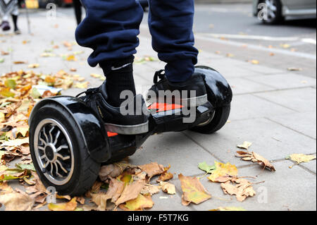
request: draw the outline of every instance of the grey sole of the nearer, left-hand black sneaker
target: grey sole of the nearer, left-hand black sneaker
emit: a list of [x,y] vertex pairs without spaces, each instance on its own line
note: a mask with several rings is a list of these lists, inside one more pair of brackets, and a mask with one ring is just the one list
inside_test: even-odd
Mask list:
[[121,135],[138,135],[149,132],[149,121],[137,125],[118,125],[105,123],[106,130]]

